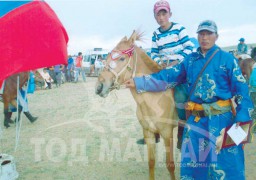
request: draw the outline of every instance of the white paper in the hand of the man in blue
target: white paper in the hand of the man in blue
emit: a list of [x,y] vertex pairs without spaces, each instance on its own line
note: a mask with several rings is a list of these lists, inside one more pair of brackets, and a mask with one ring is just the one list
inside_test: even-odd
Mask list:
[[237,146],[247,136],[246,132],[240,126],[236,128],[236,124],[233,124],[233,126],[227,131],[227,133],[231,137],[231,139],[236,143]]

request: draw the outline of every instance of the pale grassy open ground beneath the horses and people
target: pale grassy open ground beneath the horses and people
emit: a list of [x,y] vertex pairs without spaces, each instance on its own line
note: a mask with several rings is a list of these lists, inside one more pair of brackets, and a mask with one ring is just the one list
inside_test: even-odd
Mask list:
[[[0,151],[14,156],[19,179],[148,179],[147,149],[136,144],[142,129],[129,90],[104,99],[95,95],[95,82],[93,77],[29,95],[30,111],[39,119],[31,124],[22,116],[16,151],[15,126],[3,128],[1,121]],[[157,144],[155,176],[169,179],[162,142]],[[248,180],[256,179],[255,147],[255,141],[245,147]]]

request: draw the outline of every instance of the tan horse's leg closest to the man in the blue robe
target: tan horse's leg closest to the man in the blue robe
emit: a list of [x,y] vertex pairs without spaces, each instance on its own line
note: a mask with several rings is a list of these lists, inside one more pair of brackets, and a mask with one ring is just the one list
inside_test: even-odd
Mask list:
[[173,137],[164,139],[165,150],[166,150],[166,167],[171,175],[171,179],[175,179],[175,164],[173,158]]

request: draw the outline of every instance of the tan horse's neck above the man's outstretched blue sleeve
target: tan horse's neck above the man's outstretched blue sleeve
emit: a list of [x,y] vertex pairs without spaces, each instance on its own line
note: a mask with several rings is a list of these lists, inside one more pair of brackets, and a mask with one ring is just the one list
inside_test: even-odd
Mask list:
[[146,55],[146,53],[137,50],[136,76],[151,74],[160,70],[159,65]]

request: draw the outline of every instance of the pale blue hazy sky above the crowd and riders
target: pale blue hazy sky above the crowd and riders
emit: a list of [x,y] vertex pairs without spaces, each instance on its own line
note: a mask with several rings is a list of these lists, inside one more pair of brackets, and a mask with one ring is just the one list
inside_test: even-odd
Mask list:
[[[159,25],[153,6],[156,0],[46,0],[55,11],[69,35],[68,52],[77,54],[93,48],[113,49],[133,30],[144,32],[144,41],[151,47],[151,37]],[[236,45],[241,37],[245,43],[256,43],[255,0],[169,0],[170,21],[183,25],[190,37],[197,38],[196,29],[210,19],[218,26],[220,47]]]

